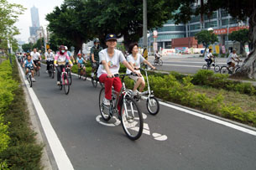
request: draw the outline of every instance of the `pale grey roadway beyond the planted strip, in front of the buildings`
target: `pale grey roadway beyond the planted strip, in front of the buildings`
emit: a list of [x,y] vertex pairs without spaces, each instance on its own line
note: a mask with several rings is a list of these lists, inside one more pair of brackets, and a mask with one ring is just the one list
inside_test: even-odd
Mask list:
[[[164,64],[157,66],[157,70],[177,71],[184,74],[195,74],[201,70],[203,64],[206,64],[203,58],[198,55],[169,55],[163,56]],[[217,64],[222,66],[226,64],[227,59],[217,59]],[[153,64],[154,57],[149,57],[149,62]],[[213,70],[213,67],[211,68]]]

